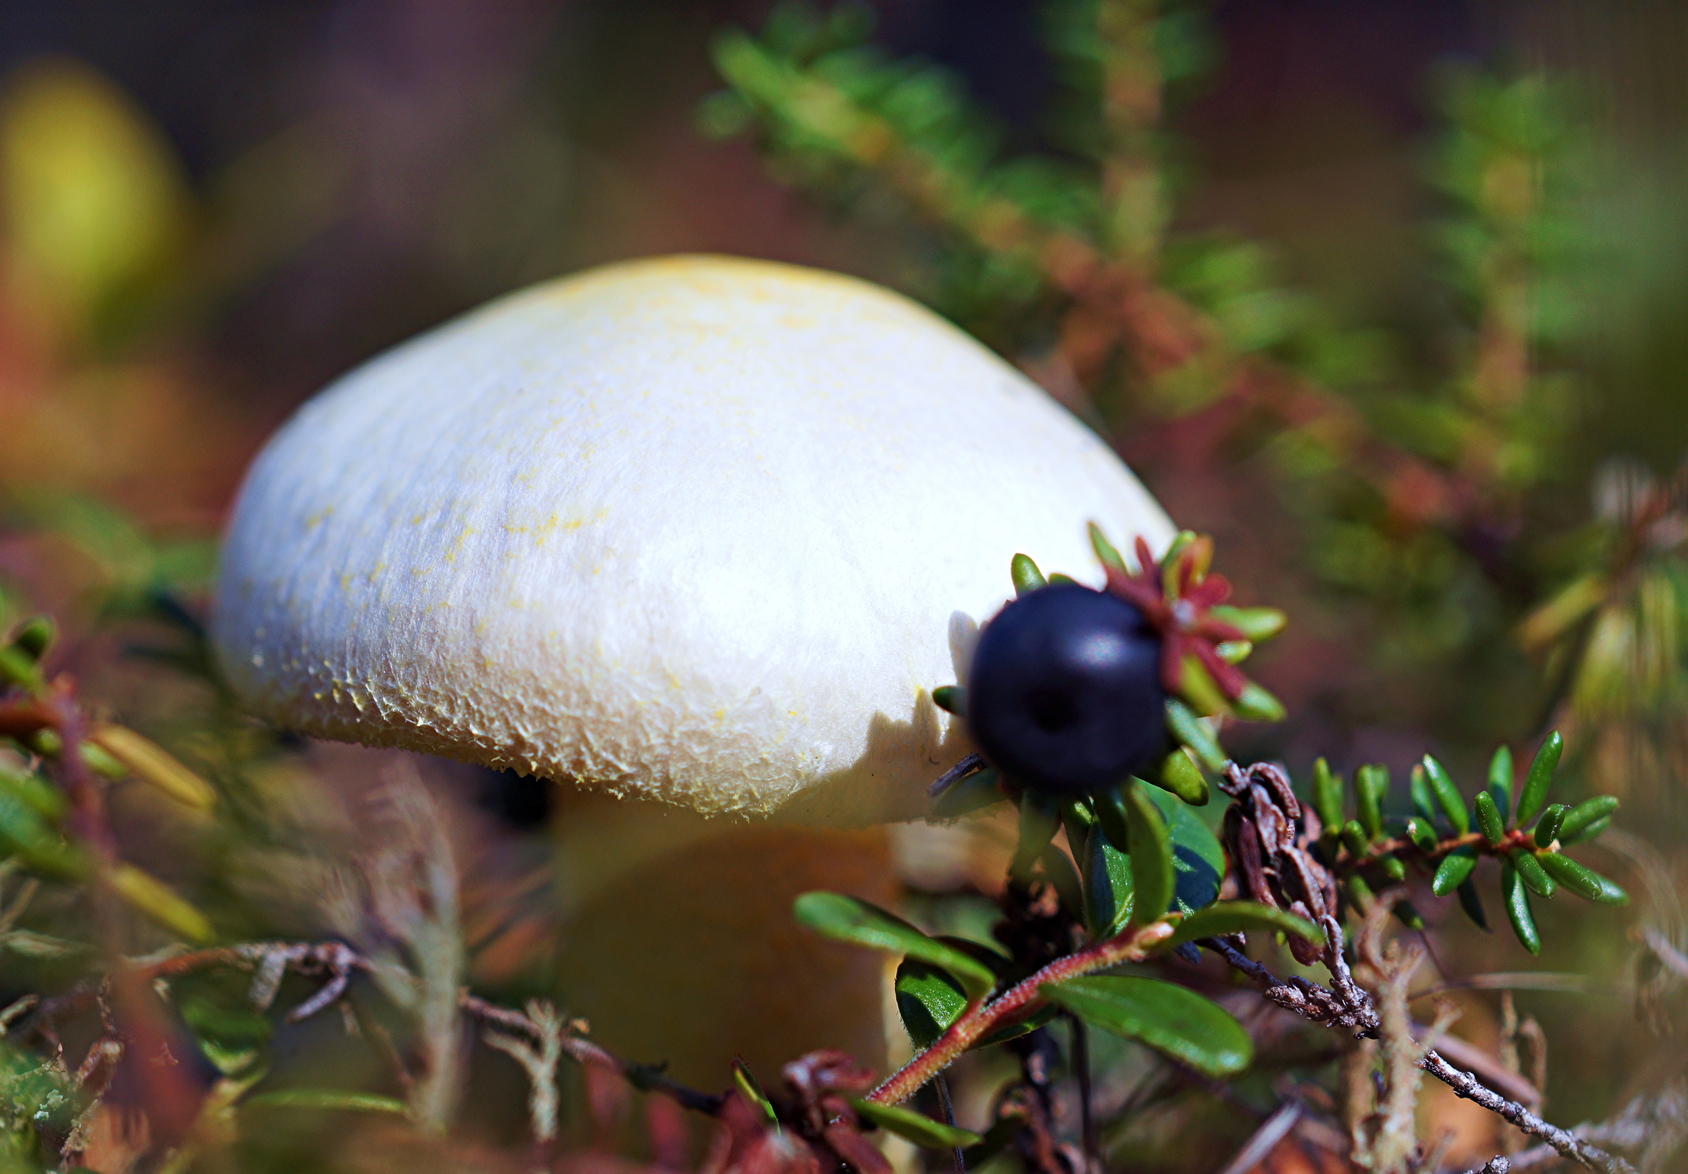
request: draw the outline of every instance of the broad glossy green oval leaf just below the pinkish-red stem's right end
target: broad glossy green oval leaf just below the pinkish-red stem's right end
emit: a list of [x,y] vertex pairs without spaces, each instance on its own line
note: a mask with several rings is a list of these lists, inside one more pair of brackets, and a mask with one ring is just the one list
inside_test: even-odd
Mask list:
[[1242,1024],[1177,983],[1102,975],[1038,990],[1085,1024],[1148,1044],[1209,1076],[1241,1073],[1254,1056]]

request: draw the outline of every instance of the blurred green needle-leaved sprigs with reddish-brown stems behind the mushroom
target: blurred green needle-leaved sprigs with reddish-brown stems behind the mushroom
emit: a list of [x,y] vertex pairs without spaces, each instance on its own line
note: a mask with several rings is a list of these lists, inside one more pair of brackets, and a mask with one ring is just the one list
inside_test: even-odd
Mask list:
[[[890,57],[869,30],[861,7],[782,3],[756,35],[721,34],[729,90],[701,108],[704,128],[753,133],[775,179],[885,231],[920,225],[930,250],[908,275],[913,292],[1104,432],[1204,414],[1231,436],[1212,476],[1229,475],[1237,446],[1266,458],[1295,519],[1298,571],[1367,601],[1381,666],[1497,667],[1553,579],[1593,576],[1573,581],[1565,623],[1523,628],[1543,654],[1588,620],[1593,579],[1629,578],[1610,568],[1632,546],[1614,510],[1590,541],[1575,539],[1561,505],[1587,414],[1585,291],[1610,260],[1590,218],[1602,157],[1570,83],[1436,78],[1443,130],[1425,166],[1440,198],[1425,228],[1440,258],[1435,326],[1391,333],[1286,285],[1268,245],[1178,228],[1193,176],[1165,108],[1217,59],[1198,7],[1050,5],[1062,88],[1048,150],[1014,157],[954,74]],[[1651,508],[1636,500],[1631,517]],[[1681,677],[1681,564],[1673,542],[1647,549],[1659,569],[1646,590],[1626,586],[1632,603],[1560,650],[1538,713],[1566,691],[1614,713],[1656,711]],[[1511,730],[1528,731],[1516,725],[1528,706],[1511,713]]]

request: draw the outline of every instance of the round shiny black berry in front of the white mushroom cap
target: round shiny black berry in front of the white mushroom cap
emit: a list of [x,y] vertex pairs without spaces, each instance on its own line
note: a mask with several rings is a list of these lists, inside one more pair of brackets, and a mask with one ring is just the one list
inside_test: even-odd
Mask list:
[[1160,635],[1124,600],[1040,588],[979,635],[967,725],[984,755],[1028,787],[1111,787],[1166,752],[1160,650]]

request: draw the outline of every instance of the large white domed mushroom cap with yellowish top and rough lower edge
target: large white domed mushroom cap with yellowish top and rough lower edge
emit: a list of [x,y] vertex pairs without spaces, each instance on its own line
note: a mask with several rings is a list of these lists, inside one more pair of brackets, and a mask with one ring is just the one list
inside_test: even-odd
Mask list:
[[701,811],[925,811],[1008,564],[1173,527],[915,302],[726,257],[500,299],[306,404],[240,492],[213,618],[306,733]]

